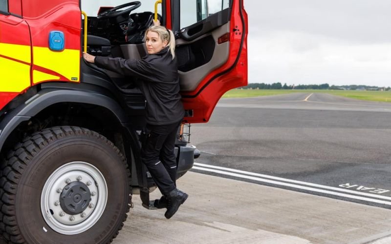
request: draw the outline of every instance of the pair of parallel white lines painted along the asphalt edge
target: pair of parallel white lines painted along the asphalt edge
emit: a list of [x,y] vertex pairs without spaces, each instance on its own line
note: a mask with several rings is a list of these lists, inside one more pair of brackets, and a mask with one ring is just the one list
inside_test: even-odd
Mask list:
[[[258,182],[270,183],[275,185],[283,185],[297,189],[303,189],[306,191],[319,192],[328,195],[334,195],[339,197],[345,197],[350,199],[356,199],[371,203],[381,203],[386,205],[391,205],[391,197],[375,195],[367,192],[358,192],[353,190],[348,190],[344,188],[338,188],[333,186],[308,183],[296,180],[285,179],[281,177],[275,177],[270,175],[258,174],[238,169],[225,168],[215,165],[209,165],[204,163],[194,163],[193,169],[213,172],[221,175],[229,175],[233,177],[238,177],[242,179],[248,179]],[[353,195],[354,194],[354,195]],[[388,201],[384,201],[388,200]]]

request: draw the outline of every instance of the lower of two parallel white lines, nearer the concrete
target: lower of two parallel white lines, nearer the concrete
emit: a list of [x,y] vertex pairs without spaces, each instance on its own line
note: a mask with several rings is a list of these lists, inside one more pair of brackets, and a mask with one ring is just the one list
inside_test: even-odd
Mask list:
[[257,177],[253,177],[253,176],[246,176],[246,175],[240,175],[240,174],[237,174],[237,173],[221,171],[221,170],[217,170],[217,169],[203,168],[203,167],[198,167],[198,166],[193,166],[193,168],[197,169],[197,170],[214,172],[214,173],[223,174],[223,175],[230,175],[230,176],[244,178],[244,179],[249,179],[249,180],[253,180],[253,181],[259,181],[259,182],[265,182],[265,183],[271,183],[271,184],[277,184],[277,185],[284,185],[284,186],[288,186],[288,187],[292,187],[292,188],[298,188],[298,189],[303,189],[303,190],[307,190],[307,191],[320,192],[320,193],[325,193],[325,194],[329,194],[329,195],[335,195],[335,196],[339,196],[339,197],[346,197],[346,198],[357,199],[357,200],[362,200],[362,201],[366,201],[366,202],[381,203],[381,204],[391,205],[391,202],[387,202],[387,201],[371,199],[371,198],[366,198],[366,197],[359,197],[359,196],[354,196],[354,195],[348,195],[348,194],[345,194],[345,193],[328,191],[328,190],[322,190],[322,189],[317,189],[317,188],[312,188],[312,187],[307,187],[307,186],[302,186],[302,185],[296,185],[296,184],[291,184],[291,183],[283,183],[283,182],[277,182],[277,181],[272,181],[272,180],[266,180],[266,179],[261,179],[261,178],[257,178]]

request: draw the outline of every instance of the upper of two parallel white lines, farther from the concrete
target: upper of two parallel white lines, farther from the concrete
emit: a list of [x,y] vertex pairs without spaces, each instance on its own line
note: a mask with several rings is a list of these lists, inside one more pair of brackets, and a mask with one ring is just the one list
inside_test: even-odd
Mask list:
[[[385,199],[385,200],[391,201],[391,197],[386,197],[386,196],[382,196],[382,195],[375,195],[375,194],[370,194],[370,193],[366,193],[366,192],[353,191],[353,190],[348,190],[348,189],[343,189],[343,188],[338,188],[338,187],[333,187],[333,186],[327,186],[327,185],[322,185],[322,184],[289,180],[286,178],[270,176],[270,175],[263,175],[263,174],[258,174],[258,173],[253,173],[253,172],[248,172],[248,171],[243,171],[243,170],[238,170],[238,169],[225,168],[225,167],[220,167],[220,166],[214,166],[214,165],[209,165],[209,164],[204,164],[204,163],[194,163],[194,165],[202,166],[202,167],[206,167],[206,168],[215,168],[215,169],[220,169],[220,170],[226,170],[226,171],[236,172],[239,174],[258,176],[258,177],[272,179],[272,180],[276,180],[276,181],[283,181],[283,182],[289,182],[289,183],[308,185],[308,186],[312,186],[312,187],[324,188],[324,189],[334,190],[334,191],[341,191],[341,192],[346,192],[346,193],[350,193],[350,194],[362,195],[362,196],[367,196],[367,197],[372,197],[372,198],[380,198],[380,199]],[[195,168],[195,167],[193,167],[193,168]]]

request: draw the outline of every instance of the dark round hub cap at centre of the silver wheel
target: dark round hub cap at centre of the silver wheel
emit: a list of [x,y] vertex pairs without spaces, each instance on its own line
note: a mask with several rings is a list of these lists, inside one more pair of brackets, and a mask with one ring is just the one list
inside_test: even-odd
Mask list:
[[71,182],[64,187],[60,195],[60,205],[65,213],[75,215],[82,213],[91,202],[91,191],[83,182]]

